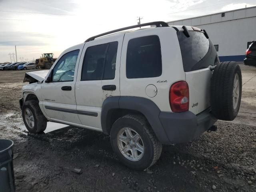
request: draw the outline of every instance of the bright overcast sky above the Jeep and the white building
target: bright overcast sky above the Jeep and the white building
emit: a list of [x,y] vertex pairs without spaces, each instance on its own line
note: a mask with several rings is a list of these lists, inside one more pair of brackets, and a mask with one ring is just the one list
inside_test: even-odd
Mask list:
[[[172,21],[256,6],[255,0],[0,0],[0,62],[39,58],[90,36],[144,22]],[[41,14],[38,14],[41,13]],[[13,59],[12,59],[13,61]]]

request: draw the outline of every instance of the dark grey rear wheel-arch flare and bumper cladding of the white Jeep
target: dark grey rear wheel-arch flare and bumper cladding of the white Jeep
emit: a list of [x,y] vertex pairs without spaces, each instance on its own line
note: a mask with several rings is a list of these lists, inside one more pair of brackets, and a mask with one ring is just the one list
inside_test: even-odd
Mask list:
[[161,112],[154,102],[146,98],[114,96],[107,98],[102,105],[101,124],[105,134],[110,134],[111,113],[114,109],[129,109],[143,114],[154,134],[162,144],[189,142],[208,130],[217,119],[208,108],[195,115],[187,112]]

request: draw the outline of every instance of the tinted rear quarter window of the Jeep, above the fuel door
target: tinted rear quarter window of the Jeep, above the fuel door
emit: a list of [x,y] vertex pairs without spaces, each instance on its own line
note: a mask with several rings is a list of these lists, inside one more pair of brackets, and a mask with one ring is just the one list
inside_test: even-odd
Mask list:
[[127,78],[150,78],[162,74],[160,40],[157,35],[129,40],[126,55]]

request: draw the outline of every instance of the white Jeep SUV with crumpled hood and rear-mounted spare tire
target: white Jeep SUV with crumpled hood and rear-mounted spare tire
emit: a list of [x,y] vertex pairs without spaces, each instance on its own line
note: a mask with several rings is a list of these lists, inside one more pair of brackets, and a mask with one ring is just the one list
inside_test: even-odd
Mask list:
[[43,132],[47,121],[103,132],[120,161],[137,170],[158,160],[162,144],[233,120],[242,91],[240,67],[219,62],[205,30],[165,22],[91,37],[26,81],[20,106],[29,132]]

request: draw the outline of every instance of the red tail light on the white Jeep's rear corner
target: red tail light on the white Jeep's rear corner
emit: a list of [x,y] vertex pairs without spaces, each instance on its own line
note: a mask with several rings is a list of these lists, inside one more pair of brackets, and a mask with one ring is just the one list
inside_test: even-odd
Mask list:
[[169,102],[172,112],[184,112],[189,108],[189,89],[186,81],[172,84],[169,92]]

